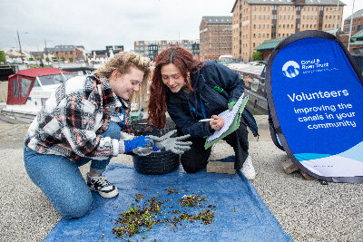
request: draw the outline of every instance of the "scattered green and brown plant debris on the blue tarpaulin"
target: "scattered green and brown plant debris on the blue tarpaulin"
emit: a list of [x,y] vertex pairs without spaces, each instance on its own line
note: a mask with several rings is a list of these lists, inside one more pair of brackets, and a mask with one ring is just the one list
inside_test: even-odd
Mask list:
[[135,194],[135,202],[115,219],[116,226],[112,228],[115,237],[132,237],[151,230],[157,224],[171,226],[175,231],[187,221],[190,223],[201,221],[203,225],[213,222],[216,207],[206,204],[205,196],[191,194],[183,195],[181,198],[179,189],[164,190],[168,192],[166,194],[168,198],[162,199],[158,196],[146,199],[142,194]]

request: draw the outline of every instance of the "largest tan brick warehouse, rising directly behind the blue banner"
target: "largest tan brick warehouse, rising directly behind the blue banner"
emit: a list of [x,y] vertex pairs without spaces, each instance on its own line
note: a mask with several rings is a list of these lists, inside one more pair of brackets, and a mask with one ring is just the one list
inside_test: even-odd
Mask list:
[[265,40],[339,28],[343,7],[342,2],[337,7],[337,0],[236,0],[231,10],[233,59],[252,60]]

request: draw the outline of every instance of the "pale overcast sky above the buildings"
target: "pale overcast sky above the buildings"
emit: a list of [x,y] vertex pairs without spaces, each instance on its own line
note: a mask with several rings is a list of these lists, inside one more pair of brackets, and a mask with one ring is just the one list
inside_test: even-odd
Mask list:
[[[354,0],[340,0],[343,19]],[[138,40],[199,39],[204,15],[231,15],[235,0],[1,0],[0,50],[43,51],[54,45],[133,49]],[[354,12],[363,9],[355,0]]]

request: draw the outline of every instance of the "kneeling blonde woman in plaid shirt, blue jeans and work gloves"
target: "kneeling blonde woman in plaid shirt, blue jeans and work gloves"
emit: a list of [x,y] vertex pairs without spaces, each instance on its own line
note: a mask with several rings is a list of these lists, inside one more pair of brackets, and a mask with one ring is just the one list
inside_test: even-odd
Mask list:
[[[123,140],[127,102],[150,77],[150,60],[117,53],[93,75],[64,82],[44,103],[25,136],[25,169],[64,218],[83,217],[91,208],[90,189],[103,198],[118,190],[102,173],[118,154],[148,155],[152,150],[182,154],[187,137],[139,136]],[[78,167],[91,162],[87,181]]]

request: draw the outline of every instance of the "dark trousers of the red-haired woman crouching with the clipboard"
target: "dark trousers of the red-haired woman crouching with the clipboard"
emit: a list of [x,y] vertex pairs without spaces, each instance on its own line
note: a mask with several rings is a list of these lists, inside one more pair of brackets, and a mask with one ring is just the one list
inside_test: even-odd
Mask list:
[[[205,150],[205,138],[191,137],[191,150],[185,151],[181,156],[182,168],[188,173],[195,173],[205,168],[211,155],[211,148]],[[238,130],[223,138],[233,147],[235,153],[234,169],[241,169],[244,161],[249,156],[248,131],[245,122],[241,119]]]

